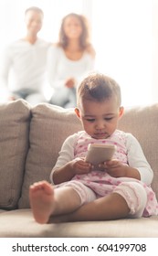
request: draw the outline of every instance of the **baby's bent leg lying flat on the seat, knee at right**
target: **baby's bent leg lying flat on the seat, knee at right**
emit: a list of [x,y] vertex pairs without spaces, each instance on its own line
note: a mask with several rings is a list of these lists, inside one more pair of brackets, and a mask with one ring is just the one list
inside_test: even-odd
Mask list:
[[145,189],[137,182],[122,182],[110,195],[100,197],[54,222],[141,218],[146,206]]

